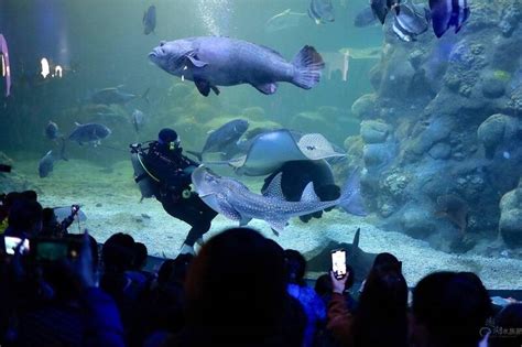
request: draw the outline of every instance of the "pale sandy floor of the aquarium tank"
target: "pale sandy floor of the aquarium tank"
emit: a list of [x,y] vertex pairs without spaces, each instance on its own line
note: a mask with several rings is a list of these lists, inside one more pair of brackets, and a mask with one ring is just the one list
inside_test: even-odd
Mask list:
[[[70,232],[80,232],[87,228],[99,242],[115,232],[128,232],[137,241],[145,243],[151,256],[173,258],[188,231],[188,225],[167,215],[155,199],[140,203],[130,161],[117,162],[108,169],[80,160],[61,161],[45,178],[37,176],[35,161],[17,162],[15,169],[25,175],[31,186],[36,187],[44,207],[81,205],[87,220],[70,226]],[[333,210],[308,224],[294,218],[279,237],[262,220],[252,220],[249,226],[273,238],[283,248],[302,252],[326,245],[328,239],[351,242],[357,228],[361,228],[360,248],[372,253],[389,251],[395,254],[403,262],[403,272],[410,286],[429,272],[455,270],[477,273],[488,289],[522,289],[521,259],[485,257],[471,252],[446,253],[401,232],[383,231],[369,221],[370,218]],[[205,238],[230,226],[237,224],[218,216]]]

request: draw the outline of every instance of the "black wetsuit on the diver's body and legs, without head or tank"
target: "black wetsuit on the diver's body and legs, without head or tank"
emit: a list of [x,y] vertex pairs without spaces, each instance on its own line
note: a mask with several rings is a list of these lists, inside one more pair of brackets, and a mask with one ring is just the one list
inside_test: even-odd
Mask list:
[[196,193],[191,192],[191,174],[198,163],[182,154],[182,149],[168,150],[152,142],[143,155],[146,170],[160,182],[155,182],[154,196],[173,217],[191,225],[185,243],[193,247],[197,239],[210,229],[218,215]]

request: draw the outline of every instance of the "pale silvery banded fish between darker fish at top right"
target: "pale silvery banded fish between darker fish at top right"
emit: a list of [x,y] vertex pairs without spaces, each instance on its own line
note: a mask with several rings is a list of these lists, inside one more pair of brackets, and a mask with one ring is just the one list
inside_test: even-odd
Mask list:
[[395,7],[393,32],[403,41],[415,41],[416,36],[427,31],[432,19],[427,8],[409,1]]

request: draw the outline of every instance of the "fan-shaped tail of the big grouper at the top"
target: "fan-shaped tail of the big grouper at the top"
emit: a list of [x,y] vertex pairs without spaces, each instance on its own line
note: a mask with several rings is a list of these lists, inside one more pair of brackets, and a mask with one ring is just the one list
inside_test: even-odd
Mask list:
[[311,89],[319,83],[325,62],[313,46],[306,45],[295,55],[292,65],[294,65],[292,83],[303,89]]

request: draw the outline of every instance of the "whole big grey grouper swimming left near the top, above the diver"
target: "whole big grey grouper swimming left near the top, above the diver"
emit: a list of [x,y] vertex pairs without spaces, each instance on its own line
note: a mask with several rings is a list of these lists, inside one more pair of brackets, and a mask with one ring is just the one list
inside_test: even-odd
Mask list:
[[325,63],[312,46],[304,46],[289,63],[278,52],[242,40],[200,36],[161,42],[149,58],[165,72],[193,80],[204,96],[217,86],[250,84],[274,94],[278,82],[309,89],[320,79]]

